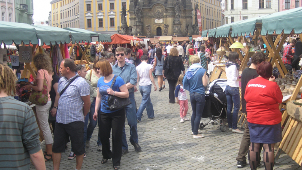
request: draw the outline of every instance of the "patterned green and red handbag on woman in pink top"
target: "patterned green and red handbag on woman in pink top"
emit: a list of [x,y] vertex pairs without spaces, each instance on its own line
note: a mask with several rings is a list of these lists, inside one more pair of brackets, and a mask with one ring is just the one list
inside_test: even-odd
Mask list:
[[[35,79],[34,86],[38,85],[38,80]],[[44,72],[44,79],[43,79],[43,88],[40,92],[35,91],[34,89],[31,90],[31,96],[29,97],[29,101],[35,105],[44,106],[48,102],[48,90],[47,90],[47,81],[45,78]]]

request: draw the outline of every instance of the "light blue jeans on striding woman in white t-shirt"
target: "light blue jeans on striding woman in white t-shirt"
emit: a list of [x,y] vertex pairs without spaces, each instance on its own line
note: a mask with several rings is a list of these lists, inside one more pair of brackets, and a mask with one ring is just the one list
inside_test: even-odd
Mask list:
[[139,92],[142,95],[142,103],[139,106],[139,110],[136,113],[137,120],[141,120],[143,116],[143,111],[145,108],[147,109],[148,118],[151,119],[154,117],[153,104],[151,102],[150,94],[151,94],[152,84],[148,86],[139,86]]

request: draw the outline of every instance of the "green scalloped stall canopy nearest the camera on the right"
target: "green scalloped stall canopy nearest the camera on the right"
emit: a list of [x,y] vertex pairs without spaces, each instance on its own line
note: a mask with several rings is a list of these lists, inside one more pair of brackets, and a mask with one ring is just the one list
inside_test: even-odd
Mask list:
[[276,12],[262,18],[261,35],[290,34],[293,30],[295,34],[302,32],[302,7]]

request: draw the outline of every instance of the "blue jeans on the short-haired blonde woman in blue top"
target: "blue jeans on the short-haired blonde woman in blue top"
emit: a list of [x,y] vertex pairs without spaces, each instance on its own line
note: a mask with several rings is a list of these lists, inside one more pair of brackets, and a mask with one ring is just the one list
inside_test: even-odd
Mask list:
[[192,92],[190,93],[190,101],[192,106],[191,129],[193,135],[198,135],[200,119],[203,112],[203,108],[205,107],[205,95]]

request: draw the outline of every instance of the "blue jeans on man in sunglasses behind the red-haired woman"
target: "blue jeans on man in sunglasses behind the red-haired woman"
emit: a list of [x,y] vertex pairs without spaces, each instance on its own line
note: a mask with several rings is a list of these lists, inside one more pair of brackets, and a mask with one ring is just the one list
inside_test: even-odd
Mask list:
[[[136,106],[134,101],[134,92],[129,93],[129,99],[132,102],[130,105],[125,107],[126,117],[128,121],[128,125],[130,126],[130,142],[131,143],[139,143],[138,135],[137,135],[137,116],[136,116]],[[126,131],[125,127],[123,128],[122,134],[122,149],[128,149],[127,139],[126,139]]]

